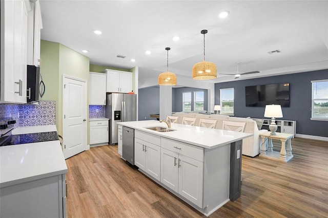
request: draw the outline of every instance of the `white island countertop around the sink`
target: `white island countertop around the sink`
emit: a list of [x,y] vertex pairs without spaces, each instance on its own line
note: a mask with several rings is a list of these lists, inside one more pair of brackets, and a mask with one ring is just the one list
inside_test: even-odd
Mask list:
[[156,132],[154,130],[145,128],[151,126],[167,127],[166,123],[160,123],[156,120],[119,122],[117,124],[209,149],[253,136],[253,134],[250,133],[239,133],[222,129],[189,126],[177,123],[171,124],[171,129],[176,129],[176,131],[172,132]]

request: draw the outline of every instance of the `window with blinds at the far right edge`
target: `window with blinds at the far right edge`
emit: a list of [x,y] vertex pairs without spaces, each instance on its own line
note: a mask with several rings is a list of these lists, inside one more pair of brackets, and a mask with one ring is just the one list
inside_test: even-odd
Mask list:
[[311,81],[312,117],[311,120],[328,121],[328,79]]

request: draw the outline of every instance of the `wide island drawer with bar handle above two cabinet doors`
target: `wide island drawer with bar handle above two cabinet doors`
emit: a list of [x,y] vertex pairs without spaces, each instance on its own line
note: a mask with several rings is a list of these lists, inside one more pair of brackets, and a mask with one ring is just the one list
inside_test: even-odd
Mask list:
[[166,148],[168,150],[177,152],[183,156],[187,156],[201,162],[203,162],[204,160],[204,148],[202,147],[194,146],[183,142],[178,142],[163,137],[160,140],[160,146],[162,148]]

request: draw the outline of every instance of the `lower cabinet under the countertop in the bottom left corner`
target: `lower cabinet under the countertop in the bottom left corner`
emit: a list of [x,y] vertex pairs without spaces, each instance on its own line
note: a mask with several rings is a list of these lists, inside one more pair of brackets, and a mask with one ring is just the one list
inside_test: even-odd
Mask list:
[[1,217],[66,217],[65,174],[0,190]]

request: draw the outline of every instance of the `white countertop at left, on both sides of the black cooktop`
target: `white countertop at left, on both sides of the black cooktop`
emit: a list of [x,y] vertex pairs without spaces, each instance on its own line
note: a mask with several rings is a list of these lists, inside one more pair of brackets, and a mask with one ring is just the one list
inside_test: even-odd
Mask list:
[[[55,125],[26,126],[17,134],[56,131]],[[7,187],[67,173],[59,140],[0,147],[0,187]]]

